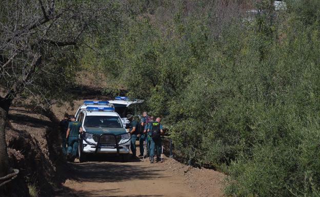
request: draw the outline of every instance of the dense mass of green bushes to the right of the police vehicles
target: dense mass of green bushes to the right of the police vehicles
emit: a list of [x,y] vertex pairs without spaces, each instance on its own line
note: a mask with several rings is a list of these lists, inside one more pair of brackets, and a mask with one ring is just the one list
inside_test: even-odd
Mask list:
[[228,195],[318,196],[316,2],[128,1],[103,61],[186,162],[229,174]]

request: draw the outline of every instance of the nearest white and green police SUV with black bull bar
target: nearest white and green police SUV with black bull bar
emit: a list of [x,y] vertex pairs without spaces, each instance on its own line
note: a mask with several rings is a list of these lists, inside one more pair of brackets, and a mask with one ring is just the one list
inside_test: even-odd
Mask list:
[[116,154],[129,160],[130,135],[113,107],[87,106],[80,110],[77,121],[84,130],[79,135],[80,162],[89,154]]

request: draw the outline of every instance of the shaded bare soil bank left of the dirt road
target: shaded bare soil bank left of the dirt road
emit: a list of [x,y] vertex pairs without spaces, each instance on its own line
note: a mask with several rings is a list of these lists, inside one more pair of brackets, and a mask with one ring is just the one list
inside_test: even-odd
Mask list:
[[28,187],[39,196],[51,196],[57,180],[61,180],[56,172],[64,163],[56,128],[56,122],[47,116],[24,107],[10,108],[6,127],[8,154],[11,167],[20,172],[8,184],[7,196],[29,196]]

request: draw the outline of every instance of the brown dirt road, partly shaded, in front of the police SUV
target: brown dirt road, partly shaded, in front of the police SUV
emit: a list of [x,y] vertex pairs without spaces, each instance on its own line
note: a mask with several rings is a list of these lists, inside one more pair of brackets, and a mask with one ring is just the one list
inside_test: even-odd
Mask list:
[[57,197],[222,196],[221,173],[190,170],[173,159],[150,164],[146,160],[122,163],[113,157],[95,157],[89,162],[68,165],[69,178]]

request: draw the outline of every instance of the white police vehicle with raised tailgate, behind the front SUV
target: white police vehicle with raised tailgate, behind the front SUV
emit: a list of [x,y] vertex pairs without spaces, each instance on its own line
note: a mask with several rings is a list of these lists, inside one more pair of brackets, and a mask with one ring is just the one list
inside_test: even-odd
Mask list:
[[[129,123],[127,120],[127,115],[138,115],[137,111],[139,109],[139,105],[143,103],[143,100],[130,100],[129,97],[125,96],[116,96],[114,100],[109,100],[109,104],[114,106],[115,112],[119,114],[122,118],[123,123],[126,125]],[[141,118],[141,117],[139,117]]]

